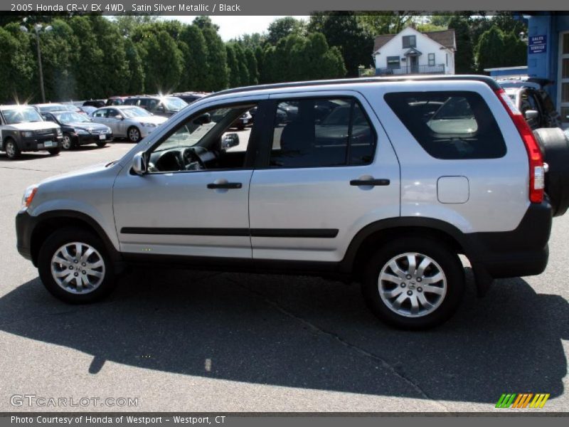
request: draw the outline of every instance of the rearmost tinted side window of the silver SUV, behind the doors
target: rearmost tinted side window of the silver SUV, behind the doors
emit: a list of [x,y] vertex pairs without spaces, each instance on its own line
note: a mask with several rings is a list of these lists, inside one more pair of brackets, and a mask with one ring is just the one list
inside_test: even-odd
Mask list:
[[432,157],[497,159],[506,154],[500,128],[478,93],[387,93],[385,102]]

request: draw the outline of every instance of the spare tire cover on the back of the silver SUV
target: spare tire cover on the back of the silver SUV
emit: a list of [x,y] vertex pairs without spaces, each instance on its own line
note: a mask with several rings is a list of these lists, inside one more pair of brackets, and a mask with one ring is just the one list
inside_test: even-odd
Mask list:
[[569,138],[559,127],[542,127],[533,131],[541,149],[543,161],[549,165],[546,173],[546,194],[553,216],[561,216],[569,208]]

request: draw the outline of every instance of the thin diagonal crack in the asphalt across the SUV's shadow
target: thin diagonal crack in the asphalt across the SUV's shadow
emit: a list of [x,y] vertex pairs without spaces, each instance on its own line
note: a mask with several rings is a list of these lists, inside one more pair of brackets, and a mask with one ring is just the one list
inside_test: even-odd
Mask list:
[[346,347],[348,349],[351,349],[354,352],[357,352],[358,354],[361,354],[363,357],[373,359],[373,361],[381,364],[381,367],[383,367],[384,369],[387,369],[390,372],[390,374],[393,374],[398,379],[403,381],[405,384],[408,384],[408,386],[410,386],[413,390],[415,390],[417,392],[417,394],[419,394],[422,397],[422,399],[426,399],[426,400],[434,402],[435,404],[441,406],[443,408],[443,411],[447,411],[447,412],[450,411],[450,409],[447,408],[447,406],[445,406],[445,404],[442,404],[440,401],[437,401],[437,399],[433,399],[432,397],[430,397],[425,392],[425,390],[423,390],[421,388],[421,386],[419,384],[417,384],[415,381],[413,381],[413,379],[410,379],[408,376],[405,376],[404,374],[402,374],[400,371],[395,369],[395,367],[393,367],[393,365],[391,365],[389,362],[387,362],[382,357],[378,356],[378,354],[368,352],[368,350],[363,349],[361,347],[358,347],[356,344],[351,344],[351,342],[346,341],[346,339],[340,337],[338,334],[324,330],[323,328],[321,328],[317,325],[314,325],[314,323],[310,322],[309,320],[304,319],[304,317],[300,317],[298,315],[295,315],[293,312],[290,312],[285,307],[282,307],[282,305],[280,305],[278,302],[276,302],[274,300],[270,300],[270,298],[267,297],[267,295],[263,294],[262,292],[259,292],[257,290],[252,290],[251,288],[248,288],[247,286],[243,285],[243,283],[238,283],[237,280],[233,280],[230,278],[228,278],[228,280],[230,282],[233,282],[236,285],[240,286],[241,288],[248,290],[248,292],[252,293],[253,295],[260,297],[267,304],[274,307],[275,310],[281,312],[283,315],[286,315],[287,317],[291,317],[292,319],[297,320],[298,322],[301,322],[303,325],[306,325],[307,327],[309,327],[312,331],[317,332],[319,334],[326,335],[327,337],[331,337],[334,340],[336,340],[336,342],[339,342],[339,344],[343,345],[344,347]]

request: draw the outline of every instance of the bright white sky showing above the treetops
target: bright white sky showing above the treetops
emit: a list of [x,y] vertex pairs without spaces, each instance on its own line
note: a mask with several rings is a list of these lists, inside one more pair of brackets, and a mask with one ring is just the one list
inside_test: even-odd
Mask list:
[[[294,16],[297,19],[309,19],[309,16]],[[162,19],[176,19],[184,23],[191,23],[196,16],[161,16]],[[211,21],[219,26],[219,35],[223,41],[238,38],[243,34],[262,33],[267,31],[269,24],[275,19],[284,16],[220,16],[210,15]]]

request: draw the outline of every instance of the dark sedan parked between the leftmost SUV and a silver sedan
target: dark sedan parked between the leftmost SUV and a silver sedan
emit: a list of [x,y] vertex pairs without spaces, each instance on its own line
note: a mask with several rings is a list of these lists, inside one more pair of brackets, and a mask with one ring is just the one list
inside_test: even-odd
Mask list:
[[63,132],[61,141],[63,149],[73,149],[87,144],[97,144],[97,147],[102,148],[107,142],[112,141],[110,127],[95,123],[89,117],[77,112],[42,112],[41,117],[47,122],[60,125]]

